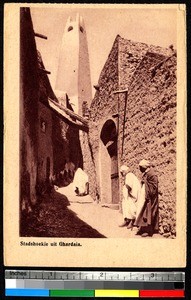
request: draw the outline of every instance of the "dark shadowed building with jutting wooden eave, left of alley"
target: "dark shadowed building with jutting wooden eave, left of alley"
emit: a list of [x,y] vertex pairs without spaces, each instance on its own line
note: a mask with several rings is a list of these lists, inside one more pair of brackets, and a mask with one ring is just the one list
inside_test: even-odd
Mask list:
[[[55,175],[82,167],[79,130],[86,120],[73,113],[67,95],[56,98],[35,38],[29,8],[20,10],[20,209],[32,211],[49,193]],[[45,41],[46,42],[46,41]],[[72,173],[72,176],[74,174]],[[72,176],[70,181],[72,180]],[[57,178],[58,181],[58,178]],[[62,182],[61,182],[62,184]]]

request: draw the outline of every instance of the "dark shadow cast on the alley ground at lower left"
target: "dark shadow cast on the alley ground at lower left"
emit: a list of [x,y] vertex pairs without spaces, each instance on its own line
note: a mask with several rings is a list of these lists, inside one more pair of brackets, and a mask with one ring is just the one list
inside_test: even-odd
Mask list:
[[20,219],[22,237],[104,238],[68,209],[68,198],[56,191],[38,201],[31,214]]

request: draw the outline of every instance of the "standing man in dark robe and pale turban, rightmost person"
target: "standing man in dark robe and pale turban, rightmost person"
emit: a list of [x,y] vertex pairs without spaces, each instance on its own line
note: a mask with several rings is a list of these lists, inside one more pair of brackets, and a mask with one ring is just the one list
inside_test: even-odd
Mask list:
[[141,160],[139,169],[143,175],[135,226],[139,227],[137,234],[146,237],[158,232],[159,228],[158,177],[148,160]]

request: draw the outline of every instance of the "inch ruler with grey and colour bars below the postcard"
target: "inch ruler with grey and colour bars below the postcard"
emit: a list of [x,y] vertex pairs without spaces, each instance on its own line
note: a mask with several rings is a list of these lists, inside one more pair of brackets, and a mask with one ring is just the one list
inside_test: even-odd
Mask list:
[[176,298],[184,287],[184,272],[5,270],[6,296]]

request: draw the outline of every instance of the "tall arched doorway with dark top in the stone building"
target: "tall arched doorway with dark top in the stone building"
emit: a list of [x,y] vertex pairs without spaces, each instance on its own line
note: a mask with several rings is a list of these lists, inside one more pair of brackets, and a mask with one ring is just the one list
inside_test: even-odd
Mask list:
[[116,208],[119,203],[119,174],[117,157],[117,128],[107,120],[100,133],[100,196],[101,202]]

